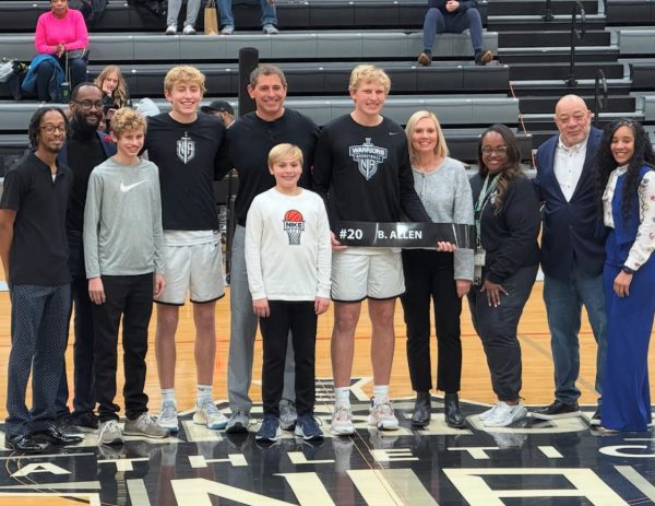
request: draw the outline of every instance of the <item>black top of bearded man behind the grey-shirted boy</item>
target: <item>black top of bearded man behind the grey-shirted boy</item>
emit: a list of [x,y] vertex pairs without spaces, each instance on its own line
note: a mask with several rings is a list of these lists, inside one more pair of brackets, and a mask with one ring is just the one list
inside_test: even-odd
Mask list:
[[73,172],[73,191],[69,202],[67,228],[82,232],[84,227],[84,205],[88,177],[94,167],[107,156],[95,132],[88,139],[69,138],[67,141],[68,166]]

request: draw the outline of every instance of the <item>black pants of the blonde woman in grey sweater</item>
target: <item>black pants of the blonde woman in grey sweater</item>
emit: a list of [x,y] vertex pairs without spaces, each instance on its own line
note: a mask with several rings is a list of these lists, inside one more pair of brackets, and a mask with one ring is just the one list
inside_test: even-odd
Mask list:
[[432,388],[430,365],[430,303],[434,307],[437,333],[437,389],[460,391],[462,341],[453,255],[429,249],[403,250],[405,294],[401,297],[407,328],[407,362],[412,388]]

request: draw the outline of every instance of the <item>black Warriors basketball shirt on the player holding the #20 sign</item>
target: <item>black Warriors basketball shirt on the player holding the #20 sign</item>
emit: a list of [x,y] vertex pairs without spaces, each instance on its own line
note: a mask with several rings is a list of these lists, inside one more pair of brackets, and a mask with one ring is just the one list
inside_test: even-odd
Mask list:
[[312,177],[333,220],[397,222],[403,211],[431,221],[414,188],[405,132],[391,119],[366,127],[346,115],[325,125]]

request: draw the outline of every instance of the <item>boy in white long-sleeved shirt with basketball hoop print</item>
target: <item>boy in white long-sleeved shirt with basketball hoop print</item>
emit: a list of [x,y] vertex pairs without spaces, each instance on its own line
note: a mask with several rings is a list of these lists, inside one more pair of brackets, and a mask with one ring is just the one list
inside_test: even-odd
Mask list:
[[330,305],[332,250],[323,200],[298,186],[302,152],[277,144],[269,153],[275,187],[252,201],[246,228],[246,266],[252,309],[260,318],[264,364],[264,420],[255,439],[277,440],[278,403],[289,330],[296,357],[296,435],[315,440],[313,419],[318,315]]

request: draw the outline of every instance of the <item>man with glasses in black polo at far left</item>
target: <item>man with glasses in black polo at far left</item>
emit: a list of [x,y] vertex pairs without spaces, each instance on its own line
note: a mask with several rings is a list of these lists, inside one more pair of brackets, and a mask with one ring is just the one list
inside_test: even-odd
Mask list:
[[61,109],[45,107],[33,115],[28,134],[34,151],[7,173],[0,200],[0,258],[12,303],[4,446],[24,452],[82,439],[55,424],[71,296],[66,213],[73,175],[57,160],[66,131]]

